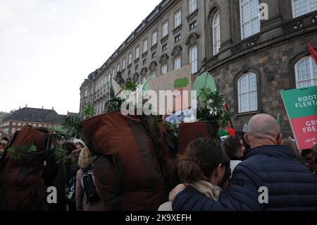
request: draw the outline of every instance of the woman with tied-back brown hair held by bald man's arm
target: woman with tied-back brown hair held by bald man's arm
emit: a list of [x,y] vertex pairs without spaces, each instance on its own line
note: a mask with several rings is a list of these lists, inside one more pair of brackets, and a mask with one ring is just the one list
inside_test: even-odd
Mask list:
[[[170,193],[170,201],[183,189],[203,193],[218,200],[231,176],[230,159],[216,140],[199,138],[189,143],[178,163],[178,176],[183,185]],[[171,202],[161,205],[159,211],[171,211]],[[190,210],[190,209],[189,209]]]

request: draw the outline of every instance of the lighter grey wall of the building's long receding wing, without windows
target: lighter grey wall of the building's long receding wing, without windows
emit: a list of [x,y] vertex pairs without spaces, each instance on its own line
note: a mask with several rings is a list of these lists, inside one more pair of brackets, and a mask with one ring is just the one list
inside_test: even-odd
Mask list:
[[[204,9],[205,1],[197,1],[197,11],[189,15],[189,1],[180,0],[165,0],[161,2],[162,8],[159,9],[159,13],[152,15],[152,19],[148,22],[144,20],[144,28],[142,24],[136,29],[133,36],[128,37],[126,40],[125,48],[122,51],[116,51],[106,63],[101,66],[97,71],[90,74],[88,79],[80,87],[80,112],[85,107],[87,102],[93,102],[96,109],[98,106],[97,114],[100,114],[100,104],[103,109],[106,99],[109,98],[109,84],[108,75],[113,73],[115,68],[116,81],[123,85],[128,78],[131,80],[137,80],[142,83],[142,78],[148,78],[154,71],[156,75],[161,74],[161,66],[167,63],[168,72],[174,69],[174,60],[181,56],[181,66],[187,66],[189,64],[189,49],[195,45],[198,47],[198,68],[201,68],[201,62],[206,57],[204,50]],[[181,10],[181,25],[177,29],[174,26],[175,13]],[[154,16],[153,16],[154,15]],[[168,20],[168,37],[162,37],[163,35],[163,23]],[[190,25],[197,21],[197,27],[190,29]],[[157,30],[157,44],[152,46],[151,35]],[[175,42],[175,37],[180,35],[180,41]],[[129,39],[130,42],[129,42]],[[148,39],[148,51],[143,54],[143,42],[144,39]],[[167,44],[167,49],[163,51],[163,45]],[[136,59],[135,49],[139,46],[139,59]],[[152,54],[156,52],[156,56],[152,57]],[[128,63],[128,55],[132,53],[132,63]],[[125,68],[122,68],[122,62],[125,59]],[[144,59],[147,63],[143,64]],[[117,66],[120,63],[120,75],[117,73]],[[156,66],[154,66],[156,65]],[[136,68],[138,66],[138,68]],[[122,80],[120,79],[122,78]],[[122,82],[123,81],[123,82]],[[101,88],[97,88],[101,83]],[[83,93],[87,90],[89,93],[87,97]]]

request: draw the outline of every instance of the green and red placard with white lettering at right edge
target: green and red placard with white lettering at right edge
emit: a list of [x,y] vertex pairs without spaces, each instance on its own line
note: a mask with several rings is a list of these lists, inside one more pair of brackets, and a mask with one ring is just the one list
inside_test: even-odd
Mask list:
[[317,86],[281,92],[299,150],[317,144]]

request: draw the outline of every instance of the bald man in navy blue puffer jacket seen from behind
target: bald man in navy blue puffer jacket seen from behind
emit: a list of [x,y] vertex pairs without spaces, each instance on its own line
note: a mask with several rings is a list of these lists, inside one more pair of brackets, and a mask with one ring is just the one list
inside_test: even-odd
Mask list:
[[275,118],[254,116],[245,138],[252,150],[233,171],[219,201],[187,187],[175,197],[174,211],[317,210],[317,178],[290,147],[280,146],[282,134]]

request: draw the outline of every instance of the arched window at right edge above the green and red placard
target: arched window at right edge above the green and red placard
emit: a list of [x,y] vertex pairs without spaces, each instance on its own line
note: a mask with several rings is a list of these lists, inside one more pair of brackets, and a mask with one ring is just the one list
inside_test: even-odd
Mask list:
[[296,87],[317,85],[317,65],[313,57],[307,56],[295,64]]

